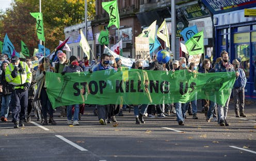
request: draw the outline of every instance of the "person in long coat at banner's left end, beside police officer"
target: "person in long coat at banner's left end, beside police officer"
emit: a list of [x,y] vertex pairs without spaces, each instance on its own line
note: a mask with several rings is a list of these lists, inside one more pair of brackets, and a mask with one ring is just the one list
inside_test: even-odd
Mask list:
[[[50,65],[50,60],[48,58],[43,58],[35,77],[35,81],[38,82],[35,99],[41,100],[42,114],[44,118],[43,125],[47,125],[48,123],[55,125],[56,122],[53,119],[53,107],[46,93],[46,71],[54,72],[54,68]],[[49,122],[47,122],[47,111],[49,111],[50,115]]]

